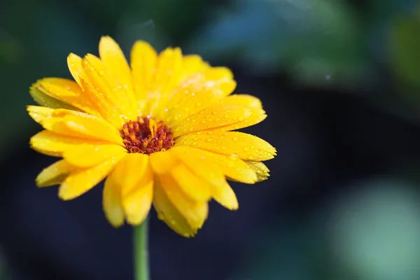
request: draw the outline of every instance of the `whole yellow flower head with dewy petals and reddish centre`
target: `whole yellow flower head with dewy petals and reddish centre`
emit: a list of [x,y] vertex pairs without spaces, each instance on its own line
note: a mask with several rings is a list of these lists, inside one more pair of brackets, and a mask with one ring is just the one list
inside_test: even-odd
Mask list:
[[99,57],[71,53],[75,81],[44,78],[30,89],[42,106],[27,110],[45,129],[31,138],[31,148],[62,158],[38,175],[39,187],[59,184],[59,197],[71,200],[106,178],[103,208],[114,227],[139,225],[153,204],[170,228],[192,237],[209,200],[238,208],[226,179],[267,179],[262,161],[274,158],[275,149],[232,132],[260,123],[265,111],[259,99],[231,94],[236,83],[229,69],[179,48],[157,54],[143,41],[134,44],[130,67],[108,36],[99,42]]

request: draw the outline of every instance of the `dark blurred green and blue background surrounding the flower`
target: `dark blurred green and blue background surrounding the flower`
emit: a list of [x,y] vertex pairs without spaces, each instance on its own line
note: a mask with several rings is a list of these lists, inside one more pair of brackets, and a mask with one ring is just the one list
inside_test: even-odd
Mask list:
[[2,0],[0,279],[132,279],[131,228],[111,228],[102,186],[71,202],[34,178],[38,78],[102,35],[229,66],[268,118],[272,176],[232,183],[195,239],[151,214],[153,280],[420,279],[420,5],[415,0]]

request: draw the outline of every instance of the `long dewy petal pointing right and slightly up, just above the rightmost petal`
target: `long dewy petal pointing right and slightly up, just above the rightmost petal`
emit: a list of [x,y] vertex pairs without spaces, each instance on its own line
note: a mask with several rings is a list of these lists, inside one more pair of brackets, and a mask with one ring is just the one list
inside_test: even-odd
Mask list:
[[[244,106],[215,106],[204,109],[186,118],[172,130],[174,137],[200,130],[226,130],[225,127],[240,127],[248,124],[253,115],[261,115],[261,109]],[[248,126],[248,125],[246,125]],[[242,126],[244,127],[244,126]],[[234,128],[236,129],[236,128]]]

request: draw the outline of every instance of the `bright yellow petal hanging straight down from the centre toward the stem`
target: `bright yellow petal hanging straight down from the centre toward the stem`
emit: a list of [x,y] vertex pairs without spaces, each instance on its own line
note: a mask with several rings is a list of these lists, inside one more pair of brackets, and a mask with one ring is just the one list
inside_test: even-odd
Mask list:
[[127,154],[111,176],[120,188],[127,222],[131,225],[141,224],[147,217],[153,200],[153,172],[148,155]]

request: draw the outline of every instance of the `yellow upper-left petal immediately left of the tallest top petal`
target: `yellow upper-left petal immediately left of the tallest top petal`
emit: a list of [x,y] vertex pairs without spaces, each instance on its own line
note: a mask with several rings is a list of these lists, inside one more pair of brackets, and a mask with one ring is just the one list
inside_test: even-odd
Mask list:
[[111,71],[99,57],[85,55],[82,63],[83,70],[93,86],[89,89],[94,93],[102,116],[131,118],[132,113],[137,115],[137,104],[129,85],[124,85],[111,76]]

